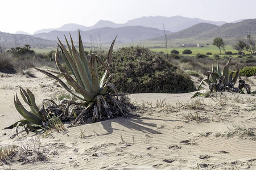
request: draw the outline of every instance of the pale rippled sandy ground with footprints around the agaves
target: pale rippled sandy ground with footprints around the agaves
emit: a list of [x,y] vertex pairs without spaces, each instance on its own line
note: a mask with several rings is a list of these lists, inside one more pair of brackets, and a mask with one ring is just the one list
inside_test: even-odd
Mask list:
[[[256,169],[255,95],[131,94],[141,117],[52,131],[45,138],[23,131],[19,138],[15,129],[3,130],[21,118],[13,104],[15,92],[21,99],[18,86],[29,88],[39,105],[62,91],[54,80],[34,74],[0,74],[0,147],[31,148],[26,161],[14,156],[0,169]],[[256,78],[247,82],[255,91]]]

